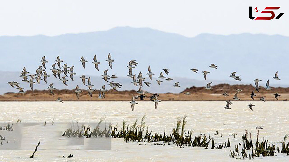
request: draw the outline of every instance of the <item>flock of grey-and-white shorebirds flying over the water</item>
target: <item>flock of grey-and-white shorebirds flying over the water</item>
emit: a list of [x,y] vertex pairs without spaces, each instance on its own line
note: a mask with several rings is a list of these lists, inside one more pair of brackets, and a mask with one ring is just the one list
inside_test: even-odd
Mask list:
[[[110,53],[108,54],[108,59],[105,60],[105,61],[108,61],[108,65],[109,65],[109,67],[112,69],[112,63],[114,62],[114,60],[111,59]],[[33,91],[33,84],[35,84],[36,82],[37,82],[38,84],[40,84],[40,80],[44,80],[44,82],[47,84],[47,78],[50,77],[49,75],[47,75],[47,72],[45,71],[45,70],[46,70],[45,64],[48,63],[48,61],[45,60],[45,56],[42,57],[42,60],[41,60],[40,62],[42,62],[42,65],[38,67],[38,69],[36,70],[36,74],[30,74],[30,72],[28,72],[28,71],[25,69],[25,67],[24,67],[24,68],[23,68],[23,71],[21,72],[21,75],[20,75],[20,77],[23,78],[22,82],[27,82],[27,83],[29,83],[30,88],[31,88],[32,91]],[[69,75],[70,79],[71,79],[72,81],[74,81],[73,75],[76,74],[76,73],[73,71],[73,67],[74,67],[74,66],[68,67],[67,64],[65,63],[65,64],[62,66],[63,69],[61,69],[61,63],[63,62],[63,60],[61,60],[59,56],[57,56],[55,62],[56,62],[56,63],[54,63],[54,64],[52,65],[52,68],[50,69],[51,72],[53,73],[53,76],[54,76],[55,78],[58,77],[58,78],[60,79],[60,81],[62,81],[62,83],[63,83],[64,85],[68,86],[67,83],[66,83],[66,82],[68,81],[68,79],[66,79],[66,77],[68,77],[68,75]],[[83,68],[85,69],[85,63],[87,63],[88,61],[85,60],[84,57],[81,57],[80,62],[81,62],[81,64],[82,64]],[[95,65],[95,69],[96,69],[97,71],[99,71],[98,65],[100,64],[100,62],[97,61],[96,55],[93,57],[93,62],[92,62],[92,63]],[[56,64],[58,65],[59,69],[55,67]],[[132,82],[131,82],[131,83],[133,83],[135,86],[138,86],[138,85],[140,86],[140,88],[139,88],[138,91],[137,91],[138,95],[137,95],[137,96],[135,96],[135,95],[132,96],[131,102],[129,102],[129,103],[131,103],[131,109],[132,109],[132,111],[134,111],[134,105],[135,105],[135,104],[138,104],[138,103],[135,101],[135,99],[144,100],[144,98],[147,97],[146,93],[148,93],[148,92],[142,90],[142,86],[143,86],[142,82],[145,80],[145,78],[142,76],[142,72],[140,72],[140,73],[138,74],[138,77],[137,77],[137,78],[136,78],[136,74],[133,74],[133,71],[132,71],[132,70],[133,70],[135,67],[137,67],[137,64],[138,64],[138,63],[136,62],[136,60],[131,60],[131,61],[129,61],[128,64],[129,64],[129,65],[127,66],[127,68],[129,68],[129,71],[128,71],[128,75],[127,75],[127,76],[130,77],[130,78],[132,78]],[[42,67],[43,67],[44,69],[42,69]],[[218,69],[218,68],[217,68],[218,66],[216,66],[215,64],[211,64],[209,67],[214,68],[214,69]],[[195,73],[197,73],[197,71],[198,71],[198,69],[190,69],[190,70],[192,70],[192,71],[195,72]],[[162,72],[160,73],[160,76],[158,77],[157,80],[155,80],[155,81],[158,83],[158,85],[160,85],[160,84],[163,82],[162,80],[164,80],[164,79],[165,79],[166,81],[173,80],[172,78],[164,77],[163,71],[164,71],[164,73],[165,73],[166,75],[168,75],[168,73],[169,73],[169,69],[162,69]],[[114,82],[114,81],[109,82],[109,81],[108,81],[108,80],[110,80],[110,79],[115,79],[115,78],[117,78],[117,76],[115,76],[115,75],[109,76],[107,72],[108,72],[108,69],[103,72],[103,75],[102,75],[103,78],[102,78],[102,79],[105,80],[106,82],[108,82],[108,85],[110,85],[113,90],[118,91],[116,88],[121,88],[122,85],[121,85],[120,83],[118,83],[118,82]],[[239,80],[239,81],[242,80],[242,79],[240,78],[240,76],[236,76],[236,75],[235,75],[236,72],[237,72],[237,71],[231,73],[231,75],[230,75],[229,77],[231,77],[231,78],[233,78],[233,79],[235,79],[235,80]],[[205,80],[206,80],[206,79],[207,79],[207,74],[209,74],[210,72],[209,72],[209,71],[202,71],[202,73],[203,73],[203,76],[204,76],[204,78],[205,78]],[[63,76],[63,75],[61,76],[61,74],[64,74],[64,76]],[[150,67],[150,66],[148,66],[148,73],[147,73],[147,75],[149,76],[149,79],[150,79],[150,80],[152,80],[152,76],[155,75],[155,74],[151,71],[151,67]],[[30,78],[28,79],[28,77],[30,77]],[[42,79],[42,78],[43,78],[43,79]],[[81,78],[81,80],[82,80],[82,83],[88,87],[88,89],[87,89],[88,94],[90,95],[90,97],[92,97],[92,93],[93,93],[94,91],[96,91],[96,90],[95,90],[95,89],[92,89],[92,87],[93,87],[94,85],[91,84],[90,77],[86,78],[85,75],[82,75],[80,78]],[[273,78],[276,79],[276,80],[280,80],[280,79],[278,78],[278,71],[275,73],[275,77],[273,77]],[[87,84],[86,84],[86,79],[87,79]],[[36,82],[34,82],[34,80],[36,80]],[[258,78],[255,79],[255,80],[253,80],[253,82],[255,82],[255,88],[254,88],[254,90],[251,92],[251,98],[252,98],[253,100],[254,100],[254,96],[256,96],[254,92],[255,92],[255,91],[259,92],[259,90],[260,90],[260,87],[259,87],[259,85],[258,85],[258,83],[259,83],[260,81],[262,81],[262,80],[259,80]],[[149,86],[149,85],[151,84],[150,82],[143,82],[143,83],[144,83],[146,86]],[[24,88],[21,88],[21,87],[19,86],[19,83],[18,83],[18,82],[8,82],[8,84],[10,84],[13,88],[17,87],[17,89],[19,90],[18,93],[25,93],[25,91],[23,91]],[[206,90],[211,90],[211,89],[213,89],[213,88],[210,86],[210,84],[212,84],[212,82],[208,83],[208,84],[205,86],[205,89],[206,89]],[[174,84],[173,86],[174,86],[174,87],[180,87],[180,86],[179,86],[179,82],[175,82],[175,84]],[[47,89],[50,91],[50,93],[51,93],[52,95],[54,95],[53,90],[55,90],[56,88],[53,87],[53,83],[49,84],[49,87],[48,87]],[[265,90],[272,90],[272,88],[269,86],[269,80],[267,80]],[[107,91],[108,91],[108,90],[105,89],[105,85],[103,85],[103,86],[101,87],[101,89],[99,90],[98,98],[100,98],[100,99],[105,98],[105,92],[107,92]],[[238,98],[238,93],[241,92],[241,91],[242,91],[242,90],[240,90],[240,89],[237,89],[237,90],[236,90],[236,94],[235,94],[234,97],[233,97],[234,100],[240,100],[240,99]],[[79,99],[79,94],[82,92],[82,90],[79,89],[79,86],[78,86],[78,85],[76,86],[74,92],[75,92],[75,94],[76,94],[77,99]],[[161,100],[158,99],[159,94],[158,94],[158,93],[151,93],[151,94],[152,94],[152,95],[149,97],[149,99],[154,102],[154,104],[155,104],[155,109],[157,109],[158,103],[161,102]],[[184,93],[184,95],[190,95],[190,93],[189,93],[189,92],[186,92],[186,93]],[[226,92],[222,93],[222,95],[224,95],[225,97],[229,96]],[[274,95],[275,95],[275,98],[278,100],[278,97],[279,97],[280,95],[279,95],[278,93],[275,93]],[[266,101],[265,96],[263,96],[263,97],[261,97],[261,98],[259,98],[259,99],[260,99],[261,101],[264,101],[264,102]],[[61,97],[58,97],[58,98],[56,99],[56,101],[63,102],[63,100],[61,99]],[[229,107],[229,105],[232,104],[231,100],[228,100],[228,101],[226,101],[226,102],[227,102],[227,104],[226,104],[225,109],[231,109],[231,108]],[[253,105],[253,104],[250,103],[250,104],[248,104],[248,106],[249,106],[249,108],[250,108],[251,110],[253,110],[252,107],[255,106],[255,105]]]

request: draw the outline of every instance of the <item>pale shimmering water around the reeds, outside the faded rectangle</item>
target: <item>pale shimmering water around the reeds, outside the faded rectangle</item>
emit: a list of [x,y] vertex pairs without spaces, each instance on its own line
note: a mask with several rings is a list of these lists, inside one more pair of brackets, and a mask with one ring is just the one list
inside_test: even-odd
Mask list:
[[[234,101],[233,101],[234,102]],[[253,103],[254,111],[247,104]],[[145,114],[146,125],[153,132],[171,133],[177,117],[187,115],[186,130],[193,135],[211,134],[217,144],[224,143],[228,137],[231,148],[204,149],[203,147],[179,148],[173,145],[139,145],[137,142],[125,143],[123,139],[112,139],[111,150],[38,150],[30,159],[32,150],[0,150],[0,161],[237,161],[230,158],[230,150],[242,143],[245,129],[252,133],[253,143],[260,130],[259,139],[281,146],[284,136],[289,133],[289,107],[285,101],[235,101],[231,110],[224,109],[224,101],[162,101],[155,110],[153,102],[141,102],[131,111],[129,102],[0,102],[0,122],[99,122],[106,116],[106,122],[118,123],[123,120],[133,123]],[[139,122],[140,123],[140,122]],[[213,135],[216,131],[218,135]],[[236,138],[233,133],[237,133]],[[220,137],[220,135],[223,137]],[[37,141],[31,141],[34,143]],[[34,144],[33,146],[35,146]],[[277,148],[276,146],[276,148]],[[239,146],[241,151],[242,146]],[[31,148],[34,149],[34,148]],[[41,149],[41,144],[39,146]],[[277,152],[277,151],[276,151]],[[74,154],[73,158],[62,158]],[[289,156],[276,153],[275,157],[255,158],[253,161],[289,161]]]

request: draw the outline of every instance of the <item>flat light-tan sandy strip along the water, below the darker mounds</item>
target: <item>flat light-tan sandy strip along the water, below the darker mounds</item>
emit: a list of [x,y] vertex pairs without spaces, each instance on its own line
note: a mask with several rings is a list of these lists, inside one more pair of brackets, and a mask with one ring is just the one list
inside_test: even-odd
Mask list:
[[[137,93],[135,94],[137,95]],[[233,100],[234,93],[229,93],[228,97],[224,97],[221,94],[209,94],[209,93],[194,93],[191,95],[184,95],[183,93],[173,94],[173,93],[165,93],[159,94],[158,97],[162,101],[226,101]],[[255,101],[260,101],[259,98],[262,96],[266,96],[267,101],[277,101],[273,95],[273,93],[258,93],[257,96],[254,97]],[[91,98],[88,94],[81,94],[79,99],[77,99],[75,94],[55,94],[54,96],[51,94],[39,94],[39,93],[30,93],[30,94],[17,94],[11,93],[6,95],[0,95],[0,101],[55,101],[57,97],[61,97],[64,101],[130,101],[133,94],[110,94],[107,93],[104,99],[98,99],[98,94],[94,93]],[[147,94],[147,97],[144,98],[146,101],[149,100],[150,94]],[[251,99],[250,94],[240,93],[238,94],[240,101],[253,101]],[[289,93],[281,94],[279,97],[279,101],[284,101],[289,98]]]

